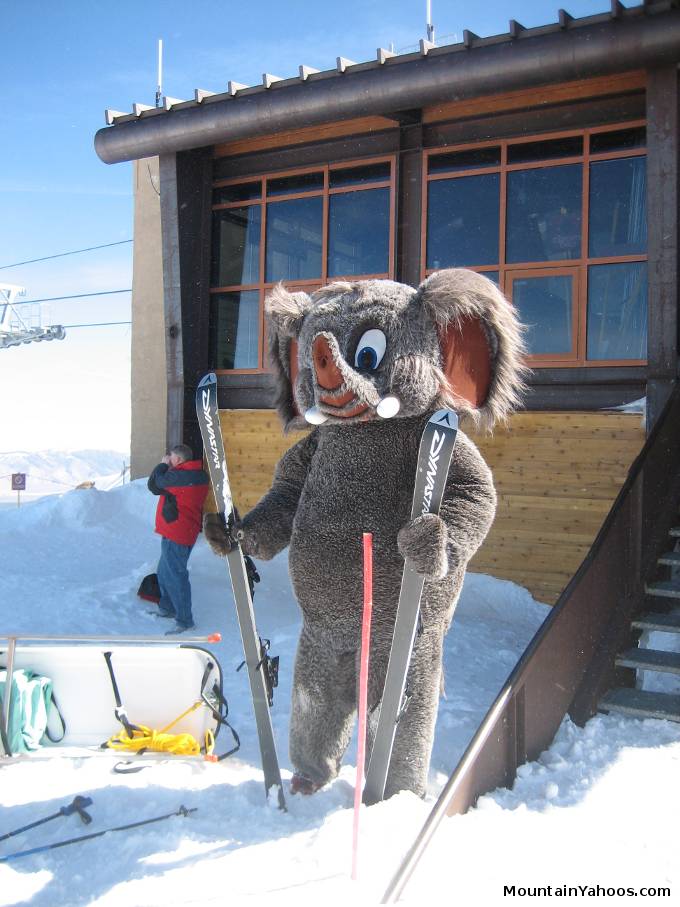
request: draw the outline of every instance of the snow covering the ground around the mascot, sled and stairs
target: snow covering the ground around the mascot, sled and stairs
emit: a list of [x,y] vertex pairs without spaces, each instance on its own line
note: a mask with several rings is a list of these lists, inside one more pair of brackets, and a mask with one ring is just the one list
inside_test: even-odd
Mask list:
[[[1,510],[0,633],[115,637],[165,629],[135,594],[159,553],[154,506],[139,481]],[[281,656],[273,719],[287,787],[299,617],[285,555],[260,567],[258,625]],[[203,539],[191,571],[196,632],[222,633],[214,650],[240,752],[217,765],[169,758],[133,775],[114,774],[115,760],[106,755],[48,759],[43,750],[0,764],[0,836],[55,812],[75,794],[94,801],[87,829],[75,816],[58,819],[0,843],[0,856],[180,805],[196,809],[186,818],[0,864],[0,905],[379,903],[432,800],[548,610],[512,583],[467,578],[447,639],[447,698],[428,801],[401,794],[363,811],[360,878],[352,882],[354,744],[340,778],[314,797],[288,796],[287,813],[264,802],[247,680],[235,671],[242,655],[225,566]],[[661,899],[677,903],[679,770],[680,726],[599,716],[579,729],[565,721],[552,747],[521,769],[512,791],[496,791],[466,816],[443,823],[403,900],[500,905],[550,886],[542,900],[565,904],[592,891],[597,896],[600,886],[641,893],[667,887],[672,897]],[[515,886],[514,894],[505,886],[510,892]],[[571,895],[567,888],[574,889]],[[603,903],[639,900],[600,896]]]

